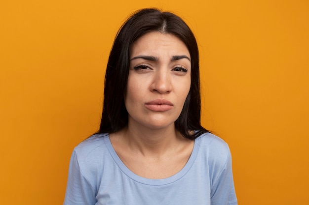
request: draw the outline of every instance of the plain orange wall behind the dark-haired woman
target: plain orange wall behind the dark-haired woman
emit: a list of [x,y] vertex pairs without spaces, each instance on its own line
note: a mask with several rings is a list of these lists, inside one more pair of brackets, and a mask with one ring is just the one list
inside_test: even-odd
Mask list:
[[62,204],[116,31],[153,6],[196,35],[202,124],[231,147],[239,205],[308,205],[307,0],[1,0],[0,204]]

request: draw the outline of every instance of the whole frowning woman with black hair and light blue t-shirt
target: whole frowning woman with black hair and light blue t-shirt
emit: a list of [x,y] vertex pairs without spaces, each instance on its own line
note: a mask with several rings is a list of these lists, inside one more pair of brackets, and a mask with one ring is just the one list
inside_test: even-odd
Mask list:
[[97,134],[72,154],[65,205],[237,205],[228,145],[200,125],[198,48],[178,16],[133,14],[110,53]]

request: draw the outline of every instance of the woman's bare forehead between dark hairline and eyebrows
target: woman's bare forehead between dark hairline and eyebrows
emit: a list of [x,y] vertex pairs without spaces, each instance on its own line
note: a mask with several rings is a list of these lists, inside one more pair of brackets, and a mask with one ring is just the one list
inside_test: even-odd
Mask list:
[[187,55],[190,53],[185,43],[170,33],[151,31],[138,38],[131,46],[130,57],[137,55]]

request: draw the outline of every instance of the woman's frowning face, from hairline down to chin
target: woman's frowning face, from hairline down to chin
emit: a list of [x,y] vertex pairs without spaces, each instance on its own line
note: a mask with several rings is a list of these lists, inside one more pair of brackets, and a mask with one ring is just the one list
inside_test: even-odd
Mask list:
[[149,32],[131,47],[124,95],[129,126],[174,126],[191,85],[191,57],[176,36]]

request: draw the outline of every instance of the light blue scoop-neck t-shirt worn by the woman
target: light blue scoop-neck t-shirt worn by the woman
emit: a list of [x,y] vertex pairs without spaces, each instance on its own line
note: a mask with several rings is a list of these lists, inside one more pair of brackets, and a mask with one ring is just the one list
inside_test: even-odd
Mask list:
[[108,135],[94,135],[73,151],[64,205],[237,205],[230,149],[203,134],[180,172],[149,179],[122,163]]

